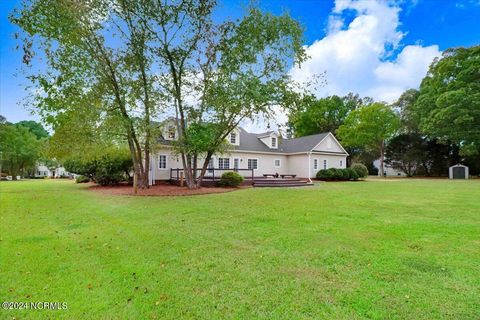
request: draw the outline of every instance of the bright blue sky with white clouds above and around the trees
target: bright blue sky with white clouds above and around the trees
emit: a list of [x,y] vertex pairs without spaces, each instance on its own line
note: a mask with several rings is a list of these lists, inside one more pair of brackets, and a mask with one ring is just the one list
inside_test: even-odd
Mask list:
[[[220,1],[219,17],[238,16],[246,1]],[[19,73],[16,27],[8,14],[20,0],[0,2],[0,114],[37,119],[20,105],[28,81]],[[273,13],[288,11],[305,27],[311,60],[292,69],[299,82],[327,71],[319,96],[356,92],[393,101],[417,87],[431,60],[454,46],[480,44],[480,0],[327,1],[261,0]]]

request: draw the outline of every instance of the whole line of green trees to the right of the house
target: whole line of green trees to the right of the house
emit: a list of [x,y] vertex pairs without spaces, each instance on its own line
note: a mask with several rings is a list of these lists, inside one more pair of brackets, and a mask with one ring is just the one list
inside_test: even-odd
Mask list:
[[[380,158],[408,176],[440,176],[464,163],[480,173],[480,46],[452,48],[433,61],[420,88],[393,104],[345,97],[306,96],[289,125],[296,136],[336,133],[374,173]],[[382,170],[383,172],[383,170]]]

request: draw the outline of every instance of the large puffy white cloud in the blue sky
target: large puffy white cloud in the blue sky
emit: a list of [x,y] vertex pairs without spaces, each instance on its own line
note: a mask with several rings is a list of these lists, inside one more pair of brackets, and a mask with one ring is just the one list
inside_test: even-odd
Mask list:
[[[318,96],[349,92],[392,102],[406,89],[418,87],[438,46],[407,45],[400,49],[400,8],[385,1],[337,0],[327,35],[306,47],[310,59],[291,71],[299,82],[326,71],[327,85]],[[346,13],[354,19],[346,24]],[[392,56],[397,53],[396,57]]]

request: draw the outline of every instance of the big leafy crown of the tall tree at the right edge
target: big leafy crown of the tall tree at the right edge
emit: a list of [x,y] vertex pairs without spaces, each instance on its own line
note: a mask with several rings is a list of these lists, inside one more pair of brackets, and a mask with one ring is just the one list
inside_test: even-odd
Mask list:
[[423,133],[480,149],[480,46],[451,48],[435,60],[414,105]]

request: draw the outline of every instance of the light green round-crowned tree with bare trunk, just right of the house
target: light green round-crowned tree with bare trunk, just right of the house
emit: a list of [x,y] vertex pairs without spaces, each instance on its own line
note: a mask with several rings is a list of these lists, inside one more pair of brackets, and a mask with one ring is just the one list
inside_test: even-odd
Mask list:
[[376,102],[350,112],[337,133],[346,146],[378,151],[383,176],[385,141],[392,138],[399,127],[397,114],[388,105]]

